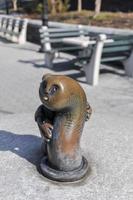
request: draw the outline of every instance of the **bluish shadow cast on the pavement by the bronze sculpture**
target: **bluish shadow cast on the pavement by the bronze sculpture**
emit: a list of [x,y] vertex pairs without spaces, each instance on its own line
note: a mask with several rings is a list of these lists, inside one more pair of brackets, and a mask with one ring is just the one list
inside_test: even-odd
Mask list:
[[34,164],[37,168],[41,158],[41,138],[35,135],[18,135],[0,130],[0,151],[10,151]]

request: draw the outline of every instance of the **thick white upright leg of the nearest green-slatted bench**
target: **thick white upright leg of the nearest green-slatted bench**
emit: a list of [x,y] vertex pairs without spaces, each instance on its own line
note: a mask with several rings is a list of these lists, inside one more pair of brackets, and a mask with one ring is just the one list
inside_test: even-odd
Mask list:
[[83,65],[87,83],[93,86],[98,84],[101,55],[106,39],[107,37],[105,34],[100,34],[98,36],[90,62]]

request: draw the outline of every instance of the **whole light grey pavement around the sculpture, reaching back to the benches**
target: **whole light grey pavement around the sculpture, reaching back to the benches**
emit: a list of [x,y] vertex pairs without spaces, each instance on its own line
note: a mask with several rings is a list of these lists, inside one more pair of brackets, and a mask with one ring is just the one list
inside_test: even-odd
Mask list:
[[[83,71],[61,64],[49,70],[38,46],[0,41],[0,199],[132,200],[133,79],[102,66],[97,87]],[[44,73],[66,74],[83,86],[93,108],[81,141],[91,174],[76,184],[57,184],[38,173],[41,139],[34,122]]]

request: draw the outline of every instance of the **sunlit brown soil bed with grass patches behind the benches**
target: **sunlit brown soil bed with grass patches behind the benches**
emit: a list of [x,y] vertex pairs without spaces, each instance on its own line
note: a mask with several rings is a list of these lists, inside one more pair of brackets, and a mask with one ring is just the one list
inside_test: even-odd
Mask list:
[[[94,12],[84,10],[80,13],[66,12],[49,15],[49,20],[73,24],[133,29],[133,13],[101,12],[97,17],[93,16]],[[32,19],[41,19],[41,15],[38,14],[28,15],[28,17]]]

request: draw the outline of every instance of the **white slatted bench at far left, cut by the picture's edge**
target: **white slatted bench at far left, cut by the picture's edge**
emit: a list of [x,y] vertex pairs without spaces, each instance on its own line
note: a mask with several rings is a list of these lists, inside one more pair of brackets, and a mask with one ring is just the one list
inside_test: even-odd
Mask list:
[[26,42],[27,19],[0,16],[0,37],[11,42]]

